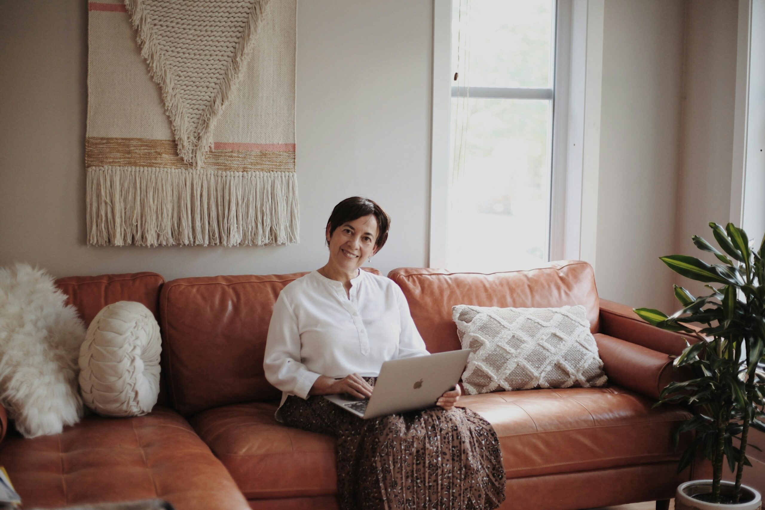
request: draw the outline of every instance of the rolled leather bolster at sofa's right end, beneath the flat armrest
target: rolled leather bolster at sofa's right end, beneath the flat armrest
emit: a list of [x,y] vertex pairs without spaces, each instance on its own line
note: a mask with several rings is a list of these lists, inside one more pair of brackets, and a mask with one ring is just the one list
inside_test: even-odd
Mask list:
[[664,352],[603,333],[595,333],[595,343],[609,382],[653,400],[669,382],[686,375],[672,369],[672,358]]

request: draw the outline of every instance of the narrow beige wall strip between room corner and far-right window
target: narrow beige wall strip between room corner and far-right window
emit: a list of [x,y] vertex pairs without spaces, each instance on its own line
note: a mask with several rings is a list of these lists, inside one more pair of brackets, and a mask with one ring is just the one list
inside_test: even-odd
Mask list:
[[[708,223],[724,226],[730,221],[737,20],[737,0],[685,3],[675,253],[709,262],[717,259],[697,249],[691,237],[702,236],[716,245]],[[704,291],[701,283],[679,276],[675,280],[696,295]]]

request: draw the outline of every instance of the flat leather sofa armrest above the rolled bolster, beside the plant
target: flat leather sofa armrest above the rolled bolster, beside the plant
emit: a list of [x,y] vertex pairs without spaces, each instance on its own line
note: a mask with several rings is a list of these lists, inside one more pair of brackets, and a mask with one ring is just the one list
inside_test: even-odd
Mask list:
[[646,323],[627,305],[601,299],[601,323],[598,333],[636,343],[665,354],[679,356],[688,343],[698,342],[694,335],[661,330]]

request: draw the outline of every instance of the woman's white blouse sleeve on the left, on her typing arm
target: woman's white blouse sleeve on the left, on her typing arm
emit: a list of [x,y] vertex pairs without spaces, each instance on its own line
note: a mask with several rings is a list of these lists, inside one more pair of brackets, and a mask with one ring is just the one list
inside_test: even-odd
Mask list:
[[308,398],[308,391],[311,391],[321,374],[311,372],[300,360],[298,320],[287,300],[280,294],[274,304],[269,334],[265,340],[265,378],[282,391]]

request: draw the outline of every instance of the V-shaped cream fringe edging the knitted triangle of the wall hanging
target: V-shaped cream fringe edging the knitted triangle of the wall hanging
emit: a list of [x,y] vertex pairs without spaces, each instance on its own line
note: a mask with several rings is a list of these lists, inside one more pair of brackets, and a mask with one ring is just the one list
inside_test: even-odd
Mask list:
[[141,55],[148,63],[151,78],[160,86],[164,110],[170,117],[178,155],[194,168],[202,167],[204,157],[213,145],[213,129],[220,113],[223,112],[223,107],[229,101],[229,96],[236,88],[236,83],[239,82],[243,74],[242,71],[247,59],[252,53],[252,44],[254,44],[258,33],[262,13],[269,2],[270,0],[253,0],[249,18],[247,18],[242,37],[236,45],[233,60],[226,67],[226,75],[220,83],[216,96],[213,97],[213,101],[203,112],[199,125],[194,129],[194,125],[189,122],[186,115],[170,67],[162,54],[155,33],[151,29],[151,21],[148,18],[143,0],[125,0],[125,8],[136,31]]

